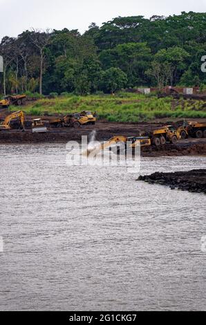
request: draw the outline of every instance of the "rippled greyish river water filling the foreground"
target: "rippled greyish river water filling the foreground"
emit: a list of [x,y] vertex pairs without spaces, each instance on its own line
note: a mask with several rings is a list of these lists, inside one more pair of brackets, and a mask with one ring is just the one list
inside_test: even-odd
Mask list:
[[[65,157],[0,145],[0,309],[206,310],[206,196]],[[142,158],[140,173],[205,164]]]

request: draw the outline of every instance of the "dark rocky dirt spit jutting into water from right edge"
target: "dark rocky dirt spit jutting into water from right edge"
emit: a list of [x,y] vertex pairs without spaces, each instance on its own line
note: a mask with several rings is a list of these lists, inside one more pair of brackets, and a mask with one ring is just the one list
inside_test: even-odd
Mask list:
[[171,189],[181,189],[189,192],[203,192],[206,194],[206,169],[194,169],[191,171],[176,171],[174,173],[153,173],[140,176],[138,180],[144,180],[149,184],[169,185]]

